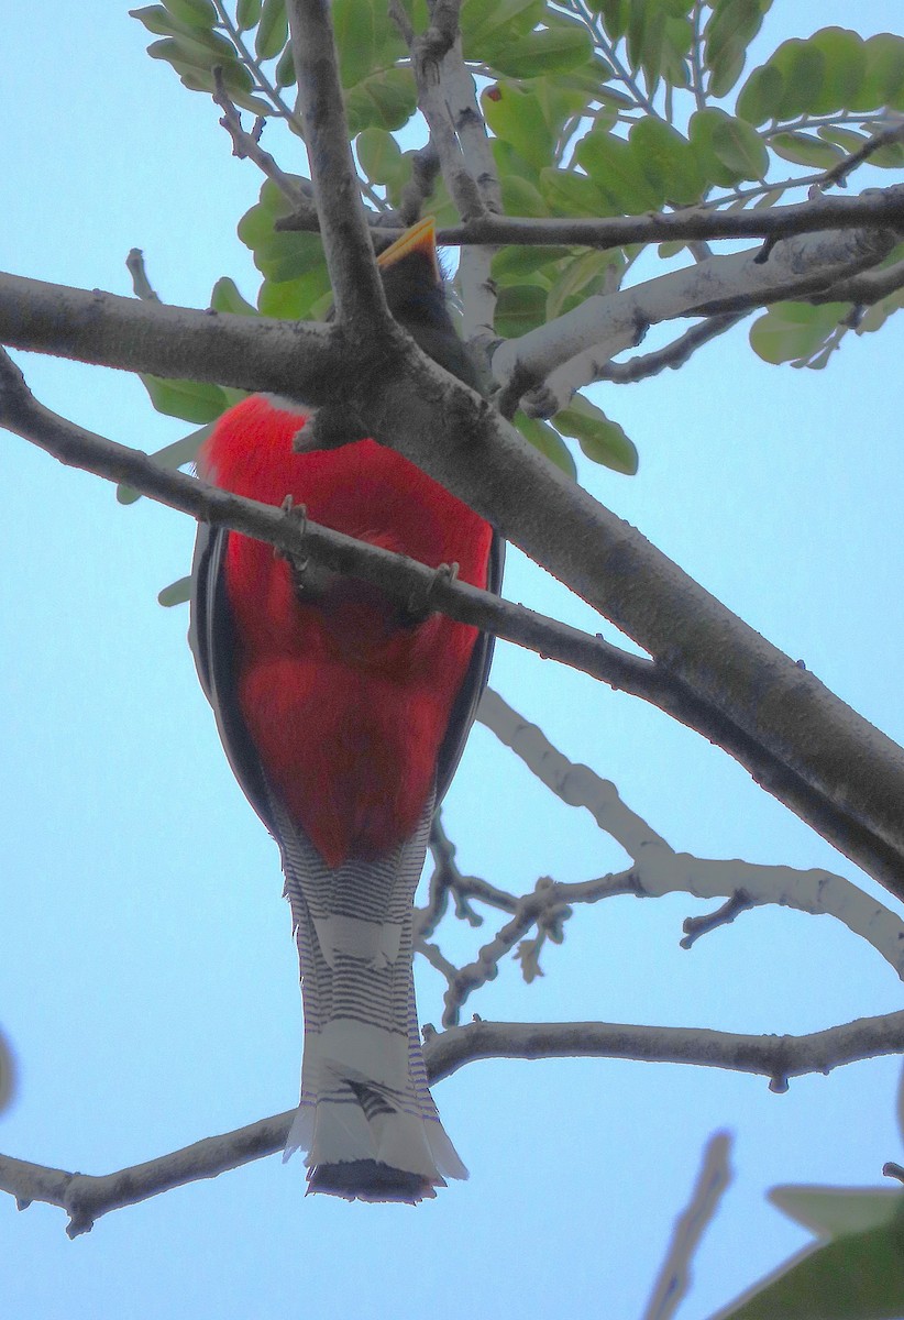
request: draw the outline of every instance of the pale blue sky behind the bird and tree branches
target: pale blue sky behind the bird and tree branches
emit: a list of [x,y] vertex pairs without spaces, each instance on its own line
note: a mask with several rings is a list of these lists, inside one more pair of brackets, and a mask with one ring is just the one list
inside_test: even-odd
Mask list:
[[[851,9],[776,0],[759,49],[831,22],[899,22],[893,0]],[[0,268],[128,293],[137,246],[165,300],[203,306],[226,273],[252,297],[235,224],[257,176],[230,156],[210,102],[146,58],[125,7],[104,0],[90,22],[62,0],[11,7],[4,34]],[[602,393],[640,449],[635,479],[582,467],[599,499],[897,741],[903,348],[889,323],[849,337],[827,371],[798,372],[755,359],[736,329],[680,374]],[[115,440],[153,450],[185,430],[124,374],[18,360],[42,401]],[[17,437],[3,453],[0,1022],[21,1080],[0,1150],[106,1172],[294,1102],[296,954],[276,849],[222,755],[186,612],[154,601],[186,572],[193,524],[148,500],[121,508]],[[519,556],[507,594],[599,627]],[[659,711],[507,645],[492,681],[676,847],[871,887]],[[516,890],[623,859],[483,729],[446,821],[465,869]],[[673,898],[578,912],[544,979],[524,986],[509,962],[472,1008],[800,1032],[900,1007],[893,973],[829,917],[756,912],[685,953],[681,921],[698,911]],[[443,936],[461,954],[487,927]],[[421,1018],[437,1020],[430,969],[418,987]],[[77,1242],[59,1210],[0,1200],[0,1296],[37,1320],[639,1316],[703,1142],[728,1127],[738,1173],[682,1311],[697,1320],[805,1241],[765,1188],[875,1184],[901,1159],[897,1072],[860,1064],[772,1096],[702,1069],[475,1064],[437,1088],[471,1180],[433,1204],[305,1200],[301,1164],[276,1159],[117,1212]]]

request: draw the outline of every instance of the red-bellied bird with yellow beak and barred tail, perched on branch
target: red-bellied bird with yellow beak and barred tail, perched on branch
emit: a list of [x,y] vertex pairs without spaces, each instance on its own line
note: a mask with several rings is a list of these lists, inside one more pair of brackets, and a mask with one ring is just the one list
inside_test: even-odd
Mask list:
[[[433,218],[377,265],[396,321],[479,387]],[[268,504],[289,496],[313,521],[499,593],[504,544],[490,523],[371,438],[296,451],[310,413],[280,396],[242,400],[215,422],[198,475]],[[307,1152],[309,1192],[433,1197],[467,1170],[428,1088],[413,899],[492,636],[201,524],[190,640],[231,767],[282,858],[305,1019],[285,1158]]]

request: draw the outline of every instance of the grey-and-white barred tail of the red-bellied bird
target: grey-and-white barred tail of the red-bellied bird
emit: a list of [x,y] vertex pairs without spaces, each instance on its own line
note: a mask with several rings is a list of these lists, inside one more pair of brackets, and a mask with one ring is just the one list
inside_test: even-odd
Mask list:
[[330,870],[273,803],[305,1006],[301,1104],[285,1158],[306,1150],[309,1191],[347,1200],[436,1196],[467,1177],[428,1088],[414,1005],[412,923],[433,801],[376,862]]

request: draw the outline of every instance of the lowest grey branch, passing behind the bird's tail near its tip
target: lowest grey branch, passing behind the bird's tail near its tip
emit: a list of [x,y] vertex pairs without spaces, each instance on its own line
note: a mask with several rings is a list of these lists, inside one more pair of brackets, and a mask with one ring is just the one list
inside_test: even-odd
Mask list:
[[[428,1035],[424,1059],[430,1082],[476,1059],[597,1057],[759,1073],[771,1078],[773,1090],[784,1090],[789,1077],[903,1051],[904,1012],[895,1012],[808,1036],[743,1036],[693,1027],[604,1022],[474,1022],[442,1035]],[[59,1205],[70,1216],[69,1236],[77,1237],[88,1233],[110,1210],[273,1155],[282,1148],[292,1118],[293,1110],[274,1114],[100,1177],[0,1155],[0,1191],[15,1196],[20,1209],[32,1201]]]

